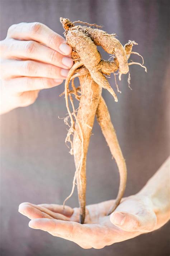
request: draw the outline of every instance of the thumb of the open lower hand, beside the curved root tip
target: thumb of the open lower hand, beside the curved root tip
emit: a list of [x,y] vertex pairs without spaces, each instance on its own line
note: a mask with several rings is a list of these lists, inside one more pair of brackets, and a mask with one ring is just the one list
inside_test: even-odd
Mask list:
[[138,214],[113,212],[110,221],[125,231],[150,232],[156,225],[156,215],[152,211],[142,211]]

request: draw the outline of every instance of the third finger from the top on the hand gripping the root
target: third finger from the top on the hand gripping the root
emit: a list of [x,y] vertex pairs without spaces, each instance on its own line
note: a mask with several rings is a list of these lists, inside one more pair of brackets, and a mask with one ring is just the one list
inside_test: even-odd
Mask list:
[[32,60],[6,60],[1,64],[3,79],[29,76],[65,79],[69,70]]

